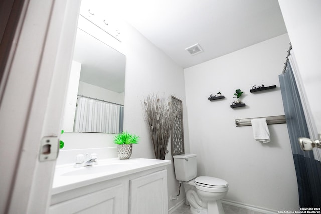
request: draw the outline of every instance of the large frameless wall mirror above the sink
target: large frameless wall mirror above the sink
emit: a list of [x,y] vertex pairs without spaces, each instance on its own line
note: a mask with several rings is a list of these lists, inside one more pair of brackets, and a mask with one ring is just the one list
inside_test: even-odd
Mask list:
[[78,28],[63,119],[65,132],[119,133],[126,57]]

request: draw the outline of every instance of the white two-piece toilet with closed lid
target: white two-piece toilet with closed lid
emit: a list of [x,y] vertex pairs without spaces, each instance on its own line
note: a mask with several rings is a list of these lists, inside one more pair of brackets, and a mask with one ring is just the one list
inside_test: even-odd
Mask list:
[[193,214],[224,214],[221,199],[228,182],[216,177],[196,177],[196,154],[174,155],[176,179],[183,183]]

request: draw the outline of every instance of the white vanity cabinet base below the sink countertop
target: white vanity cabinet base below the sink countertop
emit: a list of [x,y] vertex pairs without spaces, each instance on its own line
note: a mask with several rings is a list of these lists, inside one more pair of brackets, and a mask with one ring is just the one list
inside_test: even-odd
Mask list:
[[54,187],[49,213],[168,213],[166,166],[163,164]]

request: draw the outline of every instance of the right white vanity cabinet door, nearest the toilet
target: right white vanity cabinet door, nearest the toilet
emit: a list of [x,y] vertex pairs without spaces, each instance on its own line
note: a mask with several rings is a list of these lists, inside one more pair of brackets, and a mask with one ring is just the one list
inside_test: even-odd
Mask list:
[[130,180],[129,214],[151,213],[168,213],[166,170]]

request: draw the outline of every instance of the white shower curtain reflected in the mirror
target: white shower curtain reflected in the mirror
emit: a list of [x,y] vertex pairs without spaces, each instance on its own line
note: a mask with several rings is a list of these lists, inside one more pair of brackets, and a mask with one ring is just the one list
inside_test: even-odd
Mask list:
[[78,97],[74,132],[122,132],[123,106]]

